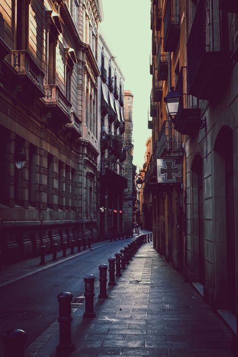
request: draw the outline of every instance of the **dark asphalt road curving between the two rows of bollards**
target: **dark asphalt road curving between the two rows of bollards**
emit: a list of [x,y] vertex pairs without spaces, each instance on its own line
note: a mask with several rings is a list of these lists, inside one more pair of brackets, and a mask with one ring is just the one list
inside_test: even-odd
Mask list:
[[[108,258],[114,256],[130,241],[132,238],[112,242],[95,250],[92,245],[92,250],[88,250],[86,254],[62,261],[49,269],[0,288],[1,336],[8,329],[21,328],[28,333],[25,345],[27,347],[57,319],[57,295],[63,291],[69,291],[73,297],[83,295],[83,277],[86,274],[93,274],[97,281],[98,266],[108,265]],[[27,319],[23,320],[22,313],[25,311]],[[19,318],[16,312],[20,313]],[[2,343],[0,355],[4,355]]]

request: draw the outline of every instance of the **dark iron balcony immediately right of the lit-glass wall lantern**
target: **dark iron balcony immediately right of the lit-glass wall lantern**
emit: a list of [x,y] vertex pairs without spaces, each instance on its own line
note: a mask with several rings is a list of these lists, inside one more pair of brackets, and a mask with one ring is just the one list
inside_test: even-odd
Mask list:
[[187,67],[181,67],[175,90],[182,97],[173,122],[174,129],[180,134],[192,136],[202,128],[202,122],[197,98],[187,93]]

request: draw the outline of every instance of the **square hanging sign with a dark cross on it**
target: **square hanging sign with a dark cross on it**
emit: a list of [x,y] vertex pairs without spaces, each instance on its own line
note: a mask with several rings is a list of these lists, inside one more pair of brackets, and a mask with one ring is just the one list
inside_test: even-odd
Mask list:
[[157,182],[158,183],[181,183],[182,163],[178,158],[157,159]]

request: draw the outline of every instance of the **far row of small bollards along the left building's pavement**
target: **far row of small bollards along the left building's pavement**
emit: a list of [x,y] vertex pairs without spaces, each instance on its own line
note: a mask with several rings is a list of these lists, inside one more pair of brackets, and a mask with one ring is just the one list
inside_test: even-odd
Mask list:
[[[82,240],[79,238],[77,239],[77,241],[75,242],[74,240],[72,240],[70,242],[70,255],[73,255],[75,253],[75,248],[77,248],[77,252],[81,252],[81,246],[83,245],[83,250],[87,249],[87,238],[84,237],[83,238],[83,242]],[[58,245],[57,243],[53,244],[52,246],[52,261],[56,261],[57,260],[57,248]],[[90,238],[88,239],[88,249],[91,248],[91,240]],[[67,250],[67,243],[63,242],[62,243],[62,258],[66,257],[66,250]],[[41,246],[40,247],[40,265],[45,265],[45,252],[46,252],[46,246]]]

